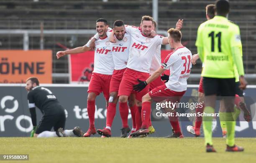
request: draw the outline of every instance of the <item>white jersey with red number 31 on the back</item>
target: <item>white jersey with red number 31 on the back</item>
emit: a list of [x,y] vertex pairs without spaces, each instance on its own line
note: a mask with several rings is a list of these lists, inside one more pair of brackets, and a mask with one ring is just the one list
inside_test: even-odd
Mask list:
[[191,51],[184,46],[167,55],[161,65],[166,70],[170,69],[169,81],[165,83],[167,88],[177,92],[187,90],[187,78],[192,67],[191,58]]

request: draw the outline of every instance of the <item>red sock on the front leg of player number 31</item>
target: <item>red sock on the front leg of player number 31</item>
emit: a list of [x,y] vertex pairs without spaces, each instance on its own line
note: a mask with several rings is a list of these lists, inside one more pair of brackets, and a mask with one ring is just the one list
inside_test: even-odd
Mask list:
[[141,128],[148,128],[149,117],[151,115],[151,102],[146,101],[142,103],[141,113]]

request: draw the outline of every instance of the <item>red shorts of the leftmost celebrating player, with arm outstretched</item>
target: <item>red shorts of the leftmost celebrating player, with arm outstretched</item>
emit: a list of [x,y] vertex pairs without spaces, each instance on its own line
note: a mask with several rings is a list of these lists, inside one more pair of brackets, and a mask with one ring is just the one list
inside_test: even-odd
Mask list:
[[92,78],[89,83],[88,93],[99,95],[103,92],[105,99],[109,99],[109,86],[112,75],[104,75],[100,73],[92,73]]

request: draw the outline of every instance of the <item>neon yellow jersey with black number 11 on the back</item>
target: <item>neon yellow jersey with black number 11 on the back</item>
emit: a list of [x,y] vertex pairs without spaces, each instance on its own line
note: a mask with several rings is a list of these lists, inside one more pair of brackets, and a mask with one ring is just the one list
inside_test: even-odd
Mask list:
[[244,75],[240,30],[227,18],[215,16],[202,23],[197,30],[196,46],[204,63],[203,77],[235,78]]

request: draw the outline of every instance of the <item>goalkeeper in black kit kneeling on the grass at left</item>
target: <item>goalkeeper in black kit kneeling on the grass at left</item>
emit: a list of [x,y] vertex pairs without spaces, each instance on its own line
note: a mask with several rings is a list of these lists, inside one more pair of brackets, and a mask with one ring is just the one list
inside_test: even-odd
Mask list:
[[[75,127],[73,130],[64,130],[65,109],[51,90],[39,86],[38,78],[28,78],[26,90],[28,91],[28,108],[33,124],[31,137],[82,137],[83,132],[79,127]],[[44,114],[38,126],[36,125],[36,107]],[[51,128],[54,128],[54,132],[51,132]]]

